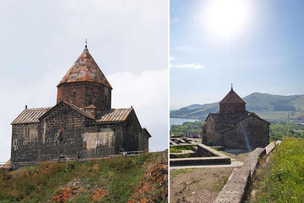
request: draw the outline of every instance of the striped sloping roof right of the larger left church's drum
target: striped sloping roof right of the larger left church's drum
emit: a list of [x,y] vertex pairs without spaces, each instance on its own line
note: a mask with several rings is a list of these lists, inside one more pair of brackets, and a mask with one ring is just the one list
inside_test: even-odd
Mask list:
[[97,123],[125,121],[133,108],[119,108],[102,111],[96,119]]

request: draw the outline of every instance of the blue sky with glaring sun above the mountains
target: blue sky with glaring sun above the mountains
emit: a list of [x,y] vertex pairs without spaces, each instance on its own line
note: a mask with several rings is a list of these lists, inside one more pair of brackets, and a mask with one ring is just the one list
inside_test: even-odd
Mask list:
[[171,0],[170,109],[304,94],[304,1]]

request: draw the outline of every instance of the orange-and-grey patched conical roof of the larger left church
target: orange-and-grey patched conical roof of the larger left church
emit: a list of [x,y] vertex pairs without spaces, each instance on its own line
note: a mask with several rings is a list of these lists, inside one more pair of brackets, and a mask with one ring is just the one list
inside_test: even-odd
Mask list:
[[67,74],[61,79],[57,86],[65,82],[97,82],[112,89],[112,86],[105,78],[88,48],[85,47],[81,55],[69,69]]

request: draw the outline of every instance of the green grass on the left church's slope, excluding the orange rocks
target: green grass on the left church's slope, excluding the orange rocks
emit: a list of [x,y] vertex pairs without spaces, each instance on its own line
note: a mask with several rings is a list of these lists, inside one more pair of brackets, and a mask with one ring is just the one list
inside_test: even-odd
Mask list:
[[90,200],[90,189],[95,187],[107,191],[102,202],[127,202],[147,168],[159,159],[157,152],[85,163],[44,163],[12,172],[1,169],[0,202],[52,202],[50,197],[73,181],[81,181],[74,202]]

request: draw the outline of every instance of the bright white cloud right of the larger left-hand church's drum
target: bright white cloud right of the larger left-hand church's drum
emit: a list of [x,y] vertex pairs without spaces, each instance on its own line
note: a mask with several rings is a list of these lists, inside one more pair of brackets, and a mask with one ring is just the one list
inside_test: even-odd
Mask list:
[[113,87],[112,108],[133,106],[142,127],[152,135],[149,149],[168,148],[168,69],[139,75],[119,72],[107,76]]

